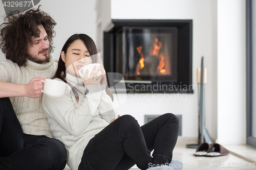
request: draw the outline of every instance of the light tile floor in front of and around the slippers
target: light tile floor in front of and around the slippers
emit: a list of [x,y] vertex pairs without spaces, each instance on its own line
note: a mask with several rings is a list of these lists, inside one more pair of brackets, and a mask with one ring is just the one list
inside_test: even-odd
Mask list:
[[[193,170],[256,170],[255,162],[249,162],[236,155],[229,154],[219,157],[196,157],[194,152],[196,149],[188,149],[185,146],[177,146],[174,149],[173,159],[183,162],[183,169]],[[65,169],[69,169],[68,167]],[[101,169],[104,170],[104,169]],[[137,166],[131,170],[139,170]]]

